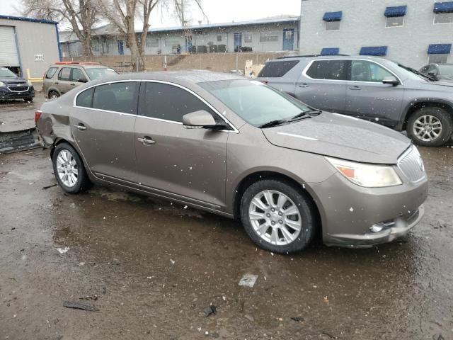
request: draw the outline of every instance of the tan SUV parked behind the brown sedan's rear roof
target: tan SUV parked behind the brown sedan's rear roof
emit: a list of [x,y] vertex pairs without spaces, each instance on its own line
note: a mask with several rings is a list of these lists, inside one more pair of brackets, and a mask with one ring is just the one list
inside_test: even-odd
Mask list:
[[112,77],[117,72],[98,62],[56,62],[42,78],[46,98],[56,99],[81,84],[94,79]]

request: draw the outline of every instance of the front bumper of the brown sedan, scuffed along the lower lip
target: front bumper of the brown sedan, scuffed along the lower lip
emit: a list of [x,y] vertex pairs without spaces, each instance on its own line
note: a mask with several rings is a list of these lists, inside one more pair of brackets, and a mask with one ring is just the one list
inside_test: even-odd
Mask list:
[[[428,179],[387,188],[363,188],[334,174],[311,189],[317,196],[323,243],[369,247],[391,242],[420,222],[425,213],[423,202],[428,197]],[[372,232],[374,225],[384,227]]]

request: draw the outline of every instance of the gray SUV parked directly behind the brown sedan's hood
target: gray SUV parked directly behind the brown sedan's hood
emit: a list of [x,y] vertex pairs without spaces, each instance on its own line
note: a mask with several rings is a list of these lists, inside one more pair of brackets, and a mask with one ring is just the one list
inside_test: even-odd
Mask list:
[[258,79],[315,108],[406,130],[418,145],[444,145],[453,133],[453,84],[384,58],[280,58]]

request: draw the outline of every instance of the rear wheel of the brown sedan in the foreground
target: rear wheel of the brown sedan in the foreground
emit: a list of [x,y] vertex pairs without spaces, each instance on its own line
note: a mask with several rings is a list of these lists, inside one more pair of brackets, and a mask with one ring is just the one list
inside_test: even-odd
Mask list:
[[55,178],[65,192],[79,193],[90,186],[84,163],[71,145],[57,145],[52,155],[52,164]]

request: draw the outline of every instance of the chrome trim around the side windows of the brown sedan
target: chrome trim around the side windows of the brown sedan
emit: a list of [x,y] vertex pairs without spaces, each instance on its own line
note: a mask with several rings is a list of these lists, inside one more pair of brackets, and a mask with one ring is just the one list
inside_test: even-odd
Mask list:
[[172,83],[171,81],[163,81],[163,80],[154,80],[154,79],[127,79],[127,80],[114,80],[114,81],[105,81],[105,83],[101,83],[101,84],[96,84],[96,85],[91,85],[89,87],[86,87],[85,89],[79,91],[76,93],[76,95],[74,96],[74,101],[72,103],[73,107],[74,108],[84,108],[86,110],[93,110],[93,111],[102,111],[102,112],[108,112],[108,113],[117,113],[117,114],[120,114],[120,115],[134,115],[134,116],[137,116],[137,117],[140,117],[140,118],[147,118],[147,119],[151,119],[151,120],[158,120],[158,121],[161,121],[161,122],[166,122],[166,123],[173,123],[173,124],[179,124],[179,125],[183,125],[182,122],[176,122],[174,120],[166,120],[166,119],[161,119],[161,118],[154,118],[154,117],[147,117],[147,116],[144,116],[144,115],[139,115],[138,113],[137,114],[132,114],[132,113],[124,113],[124,112],[117,112],[117,111],[109,111],[109,110],[103,110],[101,108],[87,108],[86,106],[77,106],[77,98],[79,97],[79,94],[81,94],[82,92],[84,91],[87,91],[89,89],[93,89],[93,87],[96,87],[96,86],[101,86],[101,85],[106,85],[106,84],[114,84],[114,83],[130,83],[130,82],[151,82],[151,83],[160,83],[160,84],[168,84],[168,85],[172,85],[172,86],[176,86],[176,87],[179,87],[180,89],[183,89],[185,91],[188,91],[190,94],[192,94],[193,96],[197,97],[198,99],[200,99],[200,101],[202,101],[203,103],[205,103],[206,106],[208,106],[210,109],[212,109],[212,111],[214,111],[214,113],[217,113],[217,115],[219,115],[219,117],[221,117],[226,124],[228,124],[230,126],[230,128],[232,128],[233,130],[218,130],[219,132],[232,132],[232,133],[239,133],[239,130],[236,129],[236,127],[229,121],[227,120],[224,115],[222,115],[222,113],[219,113],[219,111],[214,108],[214,106],[212,106],[210,103],[208,103],[207,101],[205,101],[204,98],[202,98],[201,96],[199,96],[198,94],[196,94],[194,91],[186,88],[185,86],[182,86],[182,85],[179,85],[179,84],[176,84],[176,83]]

